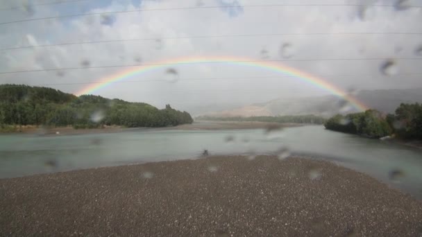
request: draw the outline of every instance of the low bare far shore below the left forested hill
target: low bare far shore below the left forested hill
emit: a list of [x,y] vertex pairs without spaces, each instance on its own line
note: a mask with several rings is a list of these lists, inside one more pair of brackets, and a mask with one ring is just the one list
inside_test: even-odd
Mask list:
[[130,132],[142,130],[242,130],[242,129],[279,129],[287,127],[298,127],[303,124],[298,123],[266,123],[266,122],[232,122],[232,121],[201,121],[192,124],[183,124],[175,127],[165,128],[124,128],[121,126],[105,126],[103,128],[75,129],[71,126],[49,128],[42,126],[21,126],[10,128],[0,134],[37,134],[37,135],[64,135],[64,134],[96,134]]

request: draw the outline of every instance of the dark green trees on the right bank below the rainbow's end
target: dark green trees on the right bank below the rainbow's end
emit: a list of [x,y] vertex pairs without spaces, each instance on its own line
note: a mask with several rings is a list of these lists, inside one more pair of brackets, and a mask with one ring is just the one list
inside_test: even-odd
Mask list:
[[369,109],[365,112],[332,116],[324,126],[328,130],[380,138],[395,134],[400,139],[422,139],[422,105],[401,104],[395,114],[382,115]]

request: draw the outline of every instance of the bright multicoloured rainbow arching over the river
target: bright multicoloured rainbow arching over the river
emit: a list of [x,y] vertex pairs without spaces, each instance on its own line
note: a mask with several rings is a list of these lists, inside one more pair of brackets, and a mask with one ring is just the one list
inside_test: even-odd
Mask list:
[[292,67],[287,67],[284,64],[281,64],[277,61],[262,61],[262,60],[252,60],[250,58],[237,58],[233,56],[192,56],[192,57],[183,57],[183,58],[174,58],[171,60],[164,60],[161,62],[155,62],[153,64],[142,64],[141,66],[130,67],[129,69],[125,69],[123,71],[119,71],[119,73],[115,73],[112,76],[108,76],[105,78],[101,78],[98,82],[94,82],[94,84],[89,85],[80,91],[76,92],[77,96],[83,94],[92,94],[99,89],[107,87],[114,82],[119,82],[121,80],[125,80],[126,78],[131,78],[133,76],[140,75],[141,73],[146,73],[149,71],[153,71],[155,69],[164,69],[167,67],[174,67],[180,64],[205,64],[205,63],[224,63],[224,64],[234,64],[237,66],[244,66],[244,67],[254,67],[258,69],[264,69],[273,71],[276,73],[281,73],[283,75],[292,76],[294,78],[298,78],[303,82],[307,82],[310,85],[314,85],[315,87],[319,87],[325,91],[328,91],[330,94],[335,96],[339,96],[344,100],[347,100],[348,103],[353,105],[357,110],[364,111],[368,109],[366,105],[362,102],[354,98],[353,96],[349,95],[344,89],[336,87],[335,85],[327,82],[323,78],[319,78],[316,76],[312,76],[309,73],[304,71],[299,71],[298,69],[294,69]]

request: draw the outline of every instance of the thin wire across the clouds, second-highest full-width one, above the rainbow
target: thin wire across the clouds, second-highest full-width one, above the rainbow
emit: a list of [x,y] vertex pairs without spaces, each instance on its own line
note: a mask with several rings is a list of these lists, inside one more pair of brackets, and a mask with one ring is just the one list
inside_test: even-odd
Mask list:
[[53,47],[53,46],[67,46],[77,44],[102,44],[112,42],[134,42],[143,40],[183,40],[183,39],[203,39],[203,38],[218,38],[218,37],[262,37],[262,36],[281,36],[281,35],[422,35],[422,33],[413,32],[362,32],[362,33],[272,33],[272,34],[242,34],[242,35],[196,35],[196,36],[180,36],[180,37],[155,37],[155,38],[139,38],[139,39],[121,39],[121,40],[99,40],[99,41],[87,41],[87,42],[65,42],[58,44],[41,44],[31,46],[20,46],[0,49],[0,51],[9,51],[16,49],[35,49],[41,47]]

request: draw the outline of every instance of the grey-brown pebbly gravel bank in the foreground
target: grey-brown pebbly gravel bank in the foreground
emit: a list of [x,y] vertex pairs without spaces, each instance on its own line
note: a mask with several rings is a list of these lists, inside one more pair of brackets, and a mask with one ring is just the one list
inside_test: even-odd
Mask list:
[[422,202],[328,161],[211,157],[0,179],[0,236],[419,236]]

